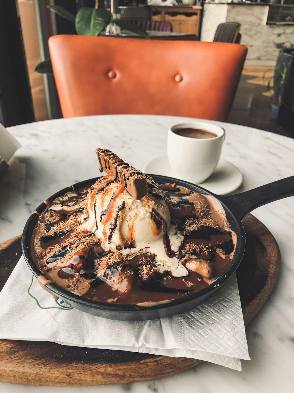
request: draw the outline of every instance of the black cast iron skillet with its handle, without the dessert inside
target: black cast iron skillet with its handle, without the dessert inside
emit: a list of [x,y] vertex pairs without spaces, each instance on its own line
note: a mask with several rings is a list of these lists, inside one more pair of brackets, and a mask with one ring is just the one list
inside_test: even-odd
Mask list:
[[[163,318],[179,312],[185,311],[191,307],[195,307],[199,303],[203,302],[209,296],[211,296],[218,288],[220,288],[227,279],[235,272],[239,266],[241,259],[243,257],[245,249],[245,232],[242,225],[242,219],[250,213],[255,208],[273,202],[275,200],[286,198],[287,196],[294,195],[294,176],[278,180],[261,187],[257,187],[250,191],[246,191],[240,194],[231,196],[220,196],[210,193],[209,191],[200,188],[194,184],[177,180],[171,177],[150,175],[158,183],[174,183],[187,187],[194,192],[199,192],[201,194],[208,194],[215,196],[220,200],[230,224],[230,227],[237,235],[236,251],[234,253],[234,258],[230,263],[227,270],[214,281],[211,285],[194,292],[193,294],[188,294],[180,299],[175,299],[169,303],[163,303],[160,305],[155,305],[152,307],[142,307],[138,305],[125,305],[125,304],[115,304],[115,303],[102,303],[94,301],[91,299],[82,298],[75,295],[67,290],[60,288],[56,284],[49,284],[47,288],[57,295],[59,298],[66,301],[68,304],[76,309],[79,309],[89,314],[100,316],[103,318],[109,318],[114,320],[151,320],[154,318]],[[96,182],[97,178],[85,180],[80,183],[76,183],[69,186],[58,193],[52,195],[48,200],[51,202],[58,196],[64,195],[67,191],[72,191],[72,189],[79,189],[81,187],[86,187],[87,185],[92,185]],[[36,211],[42,213],[47,206],[42,203]],[[36,265],[31,258],[30,252],[30,242],[31,234],[34,229],[38,215],[33,213],[27,220],[24,227],[24,232],[22,234],[22,252],[24,254],[25,260],[32,270],[33,274],[37,277],[42,275],[42,272],[38,270]]]

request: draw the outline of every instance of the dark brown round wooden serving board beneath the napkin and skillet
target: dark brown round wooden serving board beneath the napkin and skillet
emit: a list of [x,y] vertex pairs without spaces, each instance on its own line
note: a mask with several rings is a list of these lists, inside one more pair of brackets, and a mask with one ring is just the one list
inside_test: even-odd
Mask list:
[[[260,221],[249,215],[243,223],[246,249],[236,273],[246,326],[272,291],[281,257],[276,240]],[[0,290],[20,256],[20,236],[0,244]],[[0,340],[0,382],[13,384],[93,386],[137,382],[179,373],[201,362],[51,342]]]

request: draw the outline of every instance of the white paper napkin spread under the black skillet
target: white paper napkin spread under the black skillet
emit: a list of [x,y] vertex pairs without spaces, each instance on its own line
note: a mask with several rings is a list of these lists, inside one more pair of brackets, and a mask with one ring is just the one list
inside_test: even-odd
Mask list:
[[0,293],[0,305],[4,339],[188,357],[236,370],[240,358],[250,360],[235,275],[195,309],[152,321],[112,321],[54,301],[21,257]]

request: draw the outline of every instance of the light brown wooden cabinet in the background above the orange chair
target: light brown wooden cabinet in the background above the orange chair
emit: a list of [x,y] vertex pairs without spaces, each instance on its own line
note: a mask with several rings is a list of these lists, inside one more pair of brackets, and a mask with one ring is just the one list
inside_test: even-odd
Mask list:
[[196,34],[199,37],[202,7],[152,7],[152,20],[171,22],[175,33]]

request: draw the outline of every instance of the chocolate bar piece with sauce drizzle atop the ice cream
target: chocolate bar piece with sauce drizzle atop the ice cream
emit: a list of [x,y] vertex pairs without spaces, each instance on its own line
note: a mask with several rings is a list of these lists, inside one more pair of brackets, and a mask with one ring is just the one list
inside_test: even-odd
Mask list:
[[142,172],[131,167],[108,149],[97,149],[96,154],[100,163],[100,172],[104,171],[118,178],[134,199],[141,199],[147,194],[146,178]]

